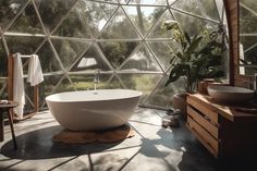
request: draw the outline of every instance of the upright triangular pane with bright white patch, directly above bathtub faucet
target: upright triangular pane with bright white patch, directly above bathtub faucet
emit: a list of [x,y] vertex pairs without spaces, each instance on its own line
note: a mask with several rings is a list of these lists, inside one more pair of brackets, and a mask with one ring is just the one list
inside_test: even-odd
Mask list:
[[110,71],[103,57],[100,54],[98,49],[93,45],[71,69],[72,72],[75,71],[90,71],[90,70],[102,70]]

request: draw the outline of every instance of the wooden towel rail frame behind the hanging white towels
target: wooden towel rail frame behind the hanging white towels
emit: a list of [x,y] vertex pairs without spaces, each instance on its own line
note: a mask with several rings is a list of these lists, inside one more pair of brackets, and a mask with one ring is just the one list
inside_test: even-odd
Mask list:
[[[30,58],[30,56],[21,56],[22,58]],[[8,58],[8,99],[13,100],[13,78],[14,78],[14,60],[13,54],[10,54]],[[14,113],[13,109],[11,109],[11,113],[13,114],[14,121],[21,121],[28,118],[32,118],[38,112],[39,109],[39,87],[38,85],[34,86],[34,110],[23,114],[23,119],[19,119]]]

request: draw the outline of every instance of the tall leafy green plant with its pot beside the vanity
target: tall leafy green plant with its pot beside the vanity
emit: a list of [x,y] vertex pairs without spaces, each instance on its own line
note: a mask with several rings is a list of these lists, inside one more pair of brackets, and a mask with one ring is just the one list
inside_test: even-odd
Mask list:
[[173,107],[181,109],[186,114],[186,93],[194,93],[197,84],[204,78],[217,78],[224,75],[222,70],[223,29],[207,32],[191,37],[187,32],[180,29],[174,21],[164,23],[167,30],[173,32],[174,46],[171,51],[169,78],[166,83],[184,80],[185,93],[176,94],[173,98]]

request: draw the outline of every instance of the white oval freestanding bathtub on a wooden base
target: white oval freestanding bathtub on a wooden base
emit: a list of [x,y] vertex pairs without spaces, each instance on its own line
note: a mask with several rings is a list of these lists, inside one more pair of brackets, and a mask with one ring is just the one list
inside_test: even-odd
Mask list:
[[96,131],[125,124],[142,93],[131,89],[97,89],[54,94],[46,97],[56,120],[71,131]]

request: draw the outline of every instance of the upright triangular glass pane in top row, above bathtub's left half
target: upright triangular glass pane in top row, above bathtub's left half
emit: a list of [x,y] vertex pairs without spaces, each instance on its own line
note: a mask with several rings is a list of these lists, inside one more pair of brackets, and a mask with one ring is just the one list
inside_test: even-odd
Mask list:
[[90,38],[90,29],[83,15],[83,9],[79,3],[76,3],[53,35],[61,37]]

